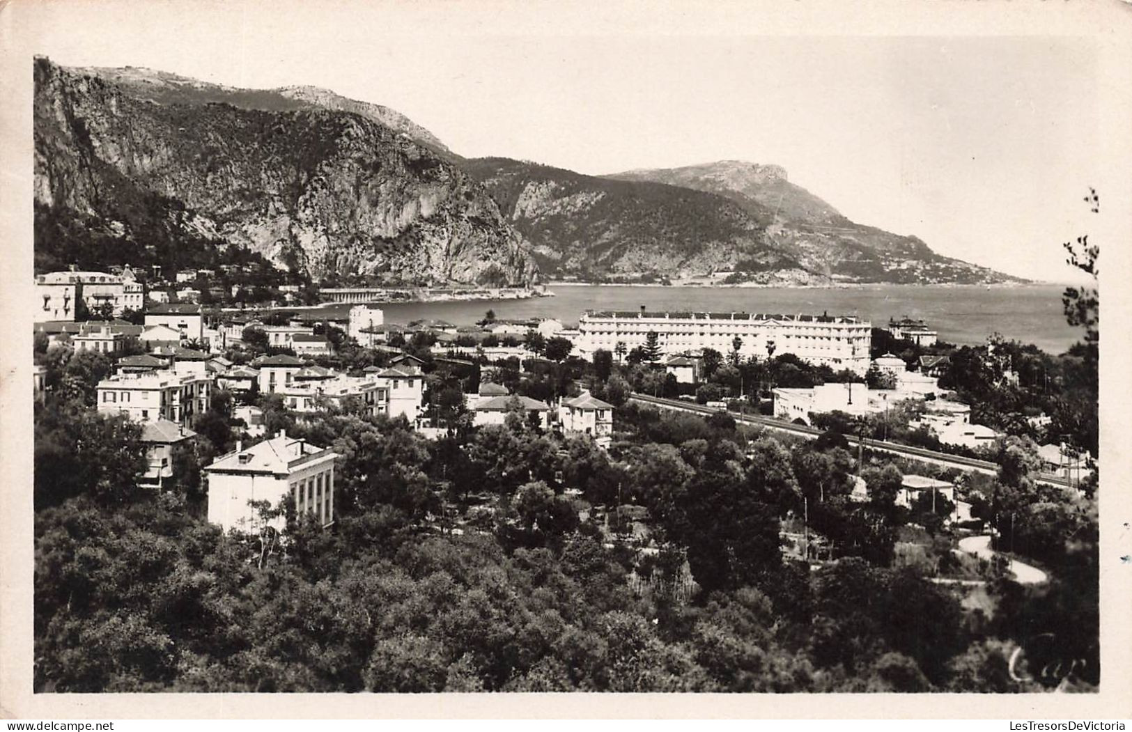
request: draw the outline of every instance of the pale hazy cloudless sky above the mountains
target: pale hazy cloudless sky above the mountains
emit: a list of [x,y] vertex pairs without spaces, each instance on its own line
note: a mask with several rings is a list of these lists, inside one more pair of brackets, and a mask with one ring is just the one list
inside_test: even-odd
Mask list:
[[941,253],[1072,274],[1061,242],[1089,230],[1081,198],[1100,162],[1088,38],[720,37],[678,23],[599,35],[552,18],[506,35],[506,7],[57,5],[35,46],[69,66],[325,86],[466,156],[592,174],[777,163],[850,218]]

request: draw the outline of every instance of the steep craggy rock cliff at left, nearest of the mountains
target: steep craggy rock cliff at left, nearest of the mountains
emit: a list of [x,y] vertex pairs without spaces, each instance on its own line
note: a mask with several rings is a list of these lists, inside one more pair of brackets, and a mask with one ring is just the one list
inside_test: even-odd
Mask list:
[[348,102],[37,59],[37,256],[66,259],[60,241],[80,247],[75,232],[94,227],[110,251],[246,247],[315,279],[538,277],[522,235],[438,140]]

